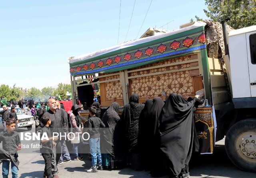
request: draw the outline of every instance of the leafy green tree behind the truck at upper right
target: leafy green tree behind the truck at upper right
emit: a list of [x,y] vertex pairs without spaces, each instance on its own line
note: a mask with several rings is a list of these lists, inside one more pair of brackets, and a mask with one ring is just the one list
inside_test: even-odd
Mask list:
[[230,18],[228,25],[234,29],[256,25],[255,0],[205,0],[205,4],[204,12],[214,22]]

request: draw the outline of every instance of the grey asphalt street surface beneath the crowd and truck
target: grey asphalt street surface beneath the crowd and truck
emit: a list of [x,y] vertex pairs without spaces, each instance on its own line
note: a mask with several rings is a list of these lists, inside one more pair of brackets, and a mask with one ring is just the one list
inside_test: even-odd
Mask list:
[[[1,125],[1,124],[0,124]],[[0,129],[2,131],[2,129]],[[19,132],[27,131],[26,128]],[[2,147],[2,144],[0,145]],[[72,155],[73,156],[73,155]],[[60,178],[150,178],[148,171],[136,171],[132,168],[119,170],[99,170],[96,173],[87,173],[91,161],[83,155],[83,161],[67,162],[58,166]],[[72,157],[74,158],[74,157]],[[44,160],[39,151],[33,153],[20,153],[19,178],[42,178],[44,173]],[[10,173],[11,174],[11,173]],[[9,177],[11,175],[9,174]],[[161,178],[167,178],[163,176]],[[256,173],[244,172],[238,169],[229,160],[224,148],[224,140],[219,141],[213,155],[194,156],[190,161],[190,178],[256,178]]]

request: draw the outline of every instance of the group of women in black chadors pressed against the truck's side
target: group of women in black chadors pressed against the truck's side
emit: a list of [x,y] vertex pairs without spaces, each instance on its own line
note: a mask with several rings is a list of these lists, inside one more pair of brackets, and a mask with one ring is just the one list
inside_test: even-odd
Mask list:
[[113,102],[102,115],[103,166],[118,168],[125,162],[136,170],[150,170],[155,177],[188,177],[192,151],[199,149],[193,117],[197,98],[171,94],[166,101],[156,97],[139,104],[138,94],[132,94],[121,117]]

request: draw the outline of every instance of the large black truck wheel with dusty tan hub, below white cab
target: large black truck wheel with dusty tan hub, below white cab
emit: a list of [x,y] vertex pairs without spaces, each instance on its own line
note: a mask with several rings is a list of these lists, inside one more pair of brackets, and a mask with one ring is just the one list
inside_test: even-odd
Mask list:
[[256,119],[235,123],[226,135],[225,149],[238,168],[256,172]]

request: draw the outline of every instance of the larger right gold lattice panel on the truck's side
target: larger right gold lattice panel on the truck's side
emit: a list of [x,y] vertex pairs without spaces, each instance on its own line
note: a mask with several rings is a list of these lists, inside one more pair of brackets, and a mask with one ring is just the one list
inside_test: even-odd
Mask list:
[[[165,65],[165,64],[176,63],[176,62],[187,61],[187,60],[190,60],[190,56],[169,59],[166,61],[150,64],[145,67]],[[190,67],[190,63],[132,72],[130,73],[130,76],[137,76],[141,74],[149,74],[149,73],[162,72],[162,71],[168,71],[168,70],[176,70],[176,69],[188,68],[188,67]],[[137,93],[140,95],[140,97],[143,97],[143,98],[145,97],[146,94],[148,94],[148,96],[150,97],[162,96],[163,90],[167,94],[171,94],[171,93],[179,93],[182,95],[194,94],[193,79],[192,77],[190,77],[189,70],[172,72],[167,74],[157,74],[153,76],[132,78],[129,80],[129,83],[130,83],[131,93]]]

